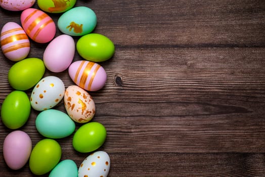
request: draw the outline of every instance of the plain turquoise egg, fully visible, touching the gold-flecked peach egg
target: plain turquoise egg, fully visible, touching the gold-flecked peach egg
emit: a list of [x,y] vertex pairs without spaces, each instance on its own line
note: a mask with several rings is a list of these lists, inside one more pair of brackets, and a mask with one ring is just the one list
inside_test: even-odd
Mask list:
[[38,132],[47,138],[64,138],[75,130],[74,121],[64,112],[48,109],[40,112],[35,120]]

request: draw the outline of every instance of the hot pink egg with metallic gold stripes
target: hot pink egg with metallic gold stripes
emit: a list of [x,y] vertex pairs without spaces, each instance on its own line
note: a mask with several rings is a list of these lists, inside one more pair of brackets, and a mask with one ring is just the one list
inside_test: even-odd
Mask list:
[[26,34],[35,42],[46,43],[51,41],[56,33],[53,19],[46,13],[29,8],[20,16],[21,24]]

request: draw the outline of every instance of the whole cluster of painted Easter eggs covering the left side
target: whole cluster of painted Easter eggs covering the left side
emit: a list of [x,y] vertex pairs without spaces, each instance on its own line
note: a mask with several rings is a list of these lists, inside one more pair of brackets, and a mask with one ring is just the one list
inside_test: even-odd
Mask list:
[[[1,49],[5,57],[14,61],[8,72],[14,91],[8,94],[1,108],[3,124],[13,129],[3,145],[6,164],[14,170],[29,162],[33,174],[50,177],[107,176],[110,158],[105,151],[96,151],[105,142],[107,132],[103,124],[90,122],[96,106],[89,92],[104,87],[107,75],[97,62],[114,55],[113,42],[105,35],[93,33],[97,25],[95,12],[84,6],[74,7],[76,0],[38,0],[39,9],[31,8],[35,0],[0,1],[9,11],[21,11],[21,24],[6,23],[1,30]],[[49,13],[62,13],[57,26]],[[80,36],[75,45],[72,36]],[[27,58],[30,42],[48,43],[43,58]],[[73,62],[75,49],[83,60]],[[65,89],[57,76],[43,77],[46,69],[53,73],[68,69],[75,83]],[[30,98],[25,91],[32,89]],[[53,109],[63,101],[65,112]],[[35,126],[45,139],[32,148],[28,134],[18,130],[28,120],[31,109],[39,111]],[[82,125],[75,131],[76,123]],[[61,160],[62,150],[56,139],[73,135],[72,146],[80,153],[90,153],[77,168],[71,159]]]

